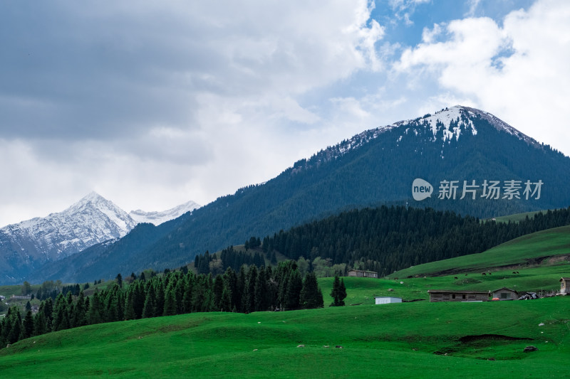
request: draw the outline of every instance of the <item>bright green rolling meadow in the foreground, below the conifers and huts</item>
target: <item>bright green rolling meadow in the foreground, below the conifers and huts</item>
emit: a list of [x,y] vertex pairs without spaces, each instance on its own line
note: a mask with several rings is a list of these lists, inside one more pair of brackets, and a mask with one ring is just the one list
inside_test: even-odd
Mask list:
[[569,315],[556,297],[122,321],[20,341],[0,351],[0,376],[564,378]]

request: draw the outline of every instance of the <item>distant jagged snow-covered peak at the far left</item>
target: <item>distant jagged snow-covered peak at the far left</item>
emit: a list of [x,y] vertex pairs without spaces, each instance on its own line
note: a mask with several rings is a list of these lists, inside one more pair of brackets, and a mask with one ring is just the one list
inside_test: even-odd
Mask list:
[[20,282],[43,263],[124,237],[136,223],[111,201],[89,193],[61,213],[0,229],[0,280]]

